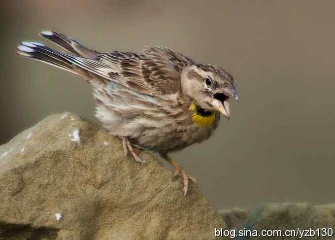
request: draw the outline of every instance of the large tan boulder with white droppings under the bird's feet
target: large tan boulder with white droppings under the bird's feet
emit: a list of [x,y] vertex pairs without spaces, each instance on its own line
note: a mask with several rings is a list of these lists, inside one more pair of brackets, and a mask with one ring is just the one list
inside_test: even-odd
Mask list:
[[[139,151],[139,150],[138,150]],[[0,240],[218,239],[226,228],[195,184],[75,114],[52,115],[0,146]]]

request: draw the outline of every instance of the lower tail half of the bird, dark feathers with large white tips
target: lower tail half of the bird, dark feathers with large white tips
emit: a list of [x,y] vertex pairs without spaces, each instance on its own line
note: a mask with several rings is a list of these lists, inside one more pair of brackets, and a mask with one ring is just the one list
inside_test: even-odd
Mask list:
[[69,62],[64,56],[62,56],[62,53],[48,48],[41,43],[21,42],[21,45],[19,45],[16,49],[16,53],[21,56],[78,74],[73,69],[73,64]]

